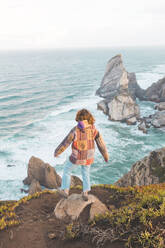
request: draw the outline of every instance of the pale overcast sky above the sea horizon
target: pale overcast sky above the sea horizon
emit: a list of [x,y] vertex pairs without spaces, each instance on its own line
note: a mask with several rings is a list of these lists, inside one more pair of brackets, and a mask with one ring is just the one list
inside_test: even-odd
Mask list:
[[165,45],[165,0],[0,0],[0,50]]

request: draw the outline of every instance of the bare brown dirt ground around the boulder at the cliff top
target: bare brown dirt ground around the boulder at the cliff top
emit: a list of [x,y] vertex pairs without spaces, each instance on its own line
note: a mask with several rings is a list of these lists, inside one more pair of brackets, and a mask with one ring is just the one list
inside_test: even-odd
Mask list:
[[[80,193],[71,190],[71,193]],[[118,207],[119,202],[111,200],[105,189],[92,189],[91,194],[97,196],[106,206]],[[26,204],[21,204],[16,209],[16,214],[21,223],[18,226],[0,231],[0,248],[93,248],[94,244],[84,240],[62,240],[65,226],[69,221],[59,221],[54,216],[54,208],[61,197],[56,194],[42,194],[37,199],[31,199]],[[88,220],[88,209],[81,215],[81,222]],[[50,238],[54,235],[54,238]],[[59,238],[61,237],[61,238]],[[106,248],[123,248],[122,242],[109,243]]]

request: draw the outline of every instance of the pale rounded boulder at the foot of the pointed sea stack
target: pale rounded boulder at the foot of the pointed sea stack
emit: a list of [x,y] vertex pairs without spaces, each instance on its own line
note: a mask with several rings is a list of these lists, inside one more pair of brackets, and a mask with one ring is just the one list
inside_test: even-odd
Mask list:
[[108,104],[108,108],[109,118],[114,121],[126,121],[134,117],[133,122],[136,122],[136,118],[140,115],[139,106],[128,93],[122,93],[114,97]]

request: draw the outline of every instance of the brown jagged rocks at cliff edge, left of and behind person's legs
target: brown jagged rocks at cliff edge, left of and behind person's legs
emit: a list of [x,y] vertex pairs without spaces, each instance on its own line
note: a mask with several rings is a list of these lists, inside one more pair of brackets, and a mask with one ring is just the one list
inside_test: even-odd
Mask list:
[[[41,191],[41,186],[48,189],[57,189],[61,186],[61,177],[57,174],[54,167],[45,163],[39,158],[32,156],[28,163],[28,176],[23,183],[30,185],[29,190],[23,190],[34,194]],[[77,176],[71,176],[71,186],[82,185],[82,181]]]

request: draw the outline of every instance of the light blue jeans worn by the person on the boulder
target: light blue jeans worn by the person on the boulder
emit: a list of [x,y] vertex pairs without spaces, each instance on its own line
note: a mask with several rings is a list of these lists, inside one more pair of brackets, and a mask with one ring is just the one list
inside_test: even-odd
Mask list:
[[81,166],[81,174],[83,179],[83,191],[90,191],[90,165],[76,165],[72,164],[68,159],[64,166],[63,176],[62,176],[62,185],[61,189],[70,188],[71,172],[74,167]]

